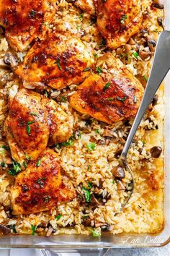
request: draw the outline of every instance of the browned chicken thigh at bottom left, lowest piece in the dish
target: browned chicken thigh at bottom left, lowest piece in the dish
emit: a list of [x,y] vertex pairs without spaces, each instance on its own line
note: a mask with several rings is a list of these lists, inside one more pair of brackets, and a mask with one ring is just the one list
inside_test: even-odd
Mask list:
[[73,186],[61,176],[58,154],[47,149],[18,174],[11,191],[13,214],[38,213],[75,197]]

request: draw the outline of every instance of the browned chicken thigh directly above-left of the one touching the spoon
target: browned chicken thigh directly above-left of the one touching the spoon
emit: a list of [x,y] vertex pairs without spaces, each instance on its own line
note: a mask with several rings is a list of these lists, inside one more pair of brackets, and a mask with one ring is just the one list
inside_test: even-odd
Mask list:
[[32,46],[16,74],[24,84],[61,89],[84,80],[89,74],[86,69],[93,63],[91,56],[76,35],[51,33]]

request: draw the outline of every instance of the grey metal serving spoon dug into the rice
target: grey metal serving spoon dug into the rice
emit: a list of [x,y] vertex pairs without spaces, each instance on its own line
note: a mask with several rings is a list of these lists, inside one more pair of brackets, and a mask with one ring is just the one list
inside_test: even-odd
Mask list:
[[133,189],[134,189],[133,171],[131,170],[130,166],[128,166],[128,163],[127,163],[128,150],[133,141],[135,133],[140,125],[140,121],[143,119],[143,116],[146,113],[148,106],[153,100],[153,97],[156,94],[156,91],[158,90],[159,86],[161,85],[161,82],[164,80],[164,77],[166,77],[166,74],[169,72],[169,69],[170,69],[170,31],[163,31],[158,38],[156,53],[153,59],[153,66],[151,69],[150,76],[148,78],[143,99],[140,103],[138,113],[135,116],[133,126],[130,129],[130,133],[128,135],[128,139],[125,143],[125,146],[122,150],[122,154],[120,155],[120,166],[122,166],[122,168],[128,171],[132,176],[130,189],[128,189],[130,194],[128,195],[128,197],[126,197],[125,203],[122,205],[122,208],[124,208],[125,205],[127,205],[128,201],[130,200],[130,197],[133,195]]

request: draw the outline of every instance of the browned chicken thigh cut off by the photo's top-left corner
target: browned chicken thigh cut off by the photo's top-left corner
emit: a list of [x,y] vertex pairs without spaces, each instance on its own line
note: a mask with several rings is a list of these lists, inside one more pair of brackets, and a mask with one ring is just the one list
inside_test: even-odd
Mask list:
[[16,51],[25,51],[40,33],[42,22],[50,22],[53,0],[0,0],[0,25]]

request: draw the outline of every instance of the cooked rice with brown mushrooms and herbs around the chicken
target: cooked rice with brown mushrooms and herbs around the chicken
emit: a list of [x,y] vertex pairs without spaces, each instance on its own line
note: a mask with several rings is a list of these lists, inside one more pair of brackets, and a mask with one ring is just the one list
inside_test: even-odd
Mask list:
[[[130,38],[125,46],[111,51],[146,86],[158,34],[163,30],[164,11],[151,7],[151,0],[143,0],[145,20],[140,32]],[[71,1],[57,1],[58,11],[52,24],[43,24],[45,30],[69,30],[80,33],[81,40],[98,59],[108,49],[97,30],[96,20],[82,12]],[[0,56],[9,51],[8,43],[0,28]],[[17,53],[23,61],[26,53]],[[102,72],[105,72],[102,67]],[[102,231],[112,234],[122,232],[156,233],[164,226],[164,182],[163,182],[163,119],[164,88],[158,91],[149,107],[140,129],[133,140],[128,163],[135,175],[135,191],[126,207],[121,211],[125,197],[124,184],[130,179],[117,179],[112,169],[119,165],[120,156],[133,120],[117,124],[104,124],[86,115],[80,115],[69,106],[68,97],[78,88],[70,85],[63,90],[40,88],[39,92],[61,104],[73,121],[73,136],[62,145],[55,145],[61,156],[61,166],[76,188],[76,198],[55,210],[13,216],[10,208],[10,190],[14,177],[9,169],[12,158],[6,143],[3,125],[8,112],[9,90],[19,89],[19,80],[9,69],[0,69],[0,223],[9,226],[12,234],[92,234],[100,236]]]

